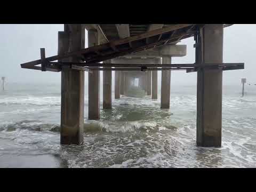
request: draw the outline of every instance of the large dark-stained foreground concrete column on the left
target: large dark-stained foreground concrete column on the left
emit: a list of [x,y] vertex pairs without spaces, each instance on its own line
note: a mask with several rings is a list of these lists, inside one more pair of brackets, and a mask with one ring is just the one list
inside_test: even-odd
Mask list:
[[[65,24],[65,31],[58,34],[58,54],[79,51],[84,48],[85,31],[82,25]],[[81,62],[77,57],[59,60]],[[61,71],[61,120],[60,143],[83,143],[84,133],[84,71]]]

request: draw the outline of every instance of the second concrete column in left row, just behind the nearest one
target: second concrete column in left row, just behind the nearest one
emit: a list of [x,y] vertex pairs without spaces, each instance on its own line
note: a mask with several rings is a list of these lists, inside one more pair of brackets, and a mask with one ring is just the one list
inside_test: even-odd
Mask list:
[[[99,44],[97,30],[88,30],[88,46]],[[100,119],[100,71],[88,73],[88,118]]]

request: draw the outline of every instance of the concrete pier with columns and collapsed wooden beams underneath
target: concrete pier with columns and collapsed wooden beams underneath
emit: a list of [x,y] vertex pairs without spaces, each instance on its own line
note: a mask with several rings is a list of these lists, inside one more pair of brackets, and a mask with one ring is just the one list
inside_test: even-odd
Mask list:
[[[89,119],[100,119],[100,70],[103,108],[138,86],[157,99],[161,71],[161,109],[170,108],[171,71],[197,73],[196,143],[221,147],[223,70],[244,69],[244,63],[223,63],[223,28],[229,24],[65,24],[58,33],[58,55],[21,64],[21,68],[61,73],[61,144],[83,143],[84,82],[88,81]],[[88,48],[85,49],[85,30]],[[182,39],[194,37],[195,61],[172,63],[187,54]],[[111,97],[115,71],[115,98]],[[84,78],[88,73],[88,79]]]

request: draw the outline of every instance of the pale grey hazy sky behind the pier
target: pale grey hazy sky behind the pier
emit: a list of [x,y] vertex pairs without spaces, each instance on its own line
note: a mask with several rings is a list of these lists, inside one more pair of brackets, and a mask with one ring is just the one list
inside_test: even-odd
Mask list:
[[[39,59],[41,47],[45,47],[46,57],[56,55],[58,31],[62,30],[63,25],[0,25],[0,76],[6,76],[7,82],[59,84],[60,73],[21,69],[20,64]],[[187,45],[187,55],[173,58],[172,63],[194,63],[194,38],[184,39],[179,44]],[[223,62],[244,62],[245,69],[223,71],[223,85],[239,85],[243,77],[247,82],[256,83],[255,45],[256,25],[236,24],[224,29]],[[172,71],[171,84],[196,85],[196,77],[196,73]]]

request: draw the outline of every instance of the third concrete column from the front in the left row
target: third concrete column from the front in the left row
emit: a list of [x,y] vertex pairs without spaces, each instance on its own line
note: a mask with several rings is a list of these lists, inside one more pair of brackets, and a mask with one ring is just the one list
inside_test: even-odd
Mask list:
[[[111,63],[110,60],[103,63]],[[112,71],[103,71],[103,109],[112,108]]]

